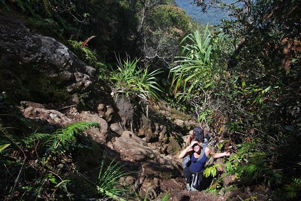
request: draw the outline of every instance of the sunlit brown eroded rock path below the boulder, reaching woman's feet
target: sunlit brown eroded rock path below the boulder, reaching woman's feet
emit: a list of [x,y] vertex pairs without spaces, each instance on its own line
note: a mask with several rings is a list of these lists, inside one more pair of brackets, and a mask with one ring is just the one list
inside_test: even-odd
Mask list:
[[[66,109],[65,114],[48,110],[47,105],[33,102],[22,102],[23,114],[26,118],[50,124],[54,129],[59,125],[64,126],[79,120],[100,122],[101,131],[91,129],[82,137],[94,142],[93,148],[98,153],[93,157],[78,156],[75,160],[80,171],[90,180],[95,180],[99,173],[100,161],[103,152],[106,151],[107,158],[116,159],[125,164],[124,168],[128,172],[133,172],[126,178],[121,178],[121,183],[132,186],[132,190],[139,190],[143,195],[148,190],[148,196],[158,197],[160,193],[164,195],[167,191],[171,195],[170,200],[227,200],[228,195],[214,195],[208,192],[188,192],[185,186],[185,178],[182,174],[182,161],[177,158],[178,152],[173,154],[162,154],[162,147],[155,146],[154,143],[147,143],[134,135],[131,131],[124,131],[120,126],[109,125],[105,120],[100,120],[98,115],[90,112],[78,113],[75,108]],[[69,116],[70,118],[68,118]],[[72,118],[72,119],[71,119]],[[114,130],[115,132],[113,132]],[[106,131],[106,132],[104,132]],[[109,132],[110,131],[110,132]],[[110,135],[110,140],[106,143],[106,135]],[[186,137],[189,137],[187,135]],[[91,142],[90,142],[91,143]],[[89,146],[89,143],[87,143]],[[210,185],[211,180],[206,181]]]

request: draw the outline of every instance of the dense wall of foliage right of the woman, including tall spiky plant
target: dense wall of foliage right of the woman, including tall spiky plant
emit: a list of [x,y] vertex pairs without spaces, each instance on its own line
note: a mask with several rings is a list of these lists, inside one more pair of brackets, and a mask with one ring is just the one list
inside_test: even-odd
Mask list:
[[229,130],[232,151],[246,155],[229,160],[241,184],[265,183],[275,199],[298,196],[300,8],[295,1],[196,2],[227,8],[235,20],[203,39],[187,37],[171,70],[175,92],[181,87],[177,95],[216,133]]

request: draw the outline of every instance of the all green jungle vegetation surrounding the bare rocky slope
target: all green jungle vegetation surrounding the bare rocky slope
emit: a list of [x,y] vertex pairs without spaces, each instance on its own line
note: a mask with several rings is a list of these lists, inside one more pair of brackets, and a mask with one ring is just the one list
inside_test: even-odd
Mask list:
[[[218,27],[202,26],[170,0],[5,0],[0,5],[1,12],[26,19],[41,34],[67,45],[98,69],[99,79],[127,94],[143,92],[140,98],[147,103],[163,100],[194,114],[214,130],[216,138],[226,129],[221,146],[233,154],[225,169],[235,175],[237,186],[263,186],[266,200],[297,200],[301,190],[298,1],[194,2],[203,11],[226,10],[231,19]],[[33,132],[11,100],[6,91],[0,96],[1,107],[10,108],[10,114],[0,114],[1,171],[11,174],[1,196],[24,200],[27,193],[35,192],[31,193],[35,200],[72,199],[74,192],[68,188],[72,180],[61,178],[58,167],[46,169],[47,163],[71,163],[67,157],[71,152],[89,153],[70,129],[97,125],[78,123],[53,135]],[[10,133],[8,122],[26,125],[25,137]],[[29,156],[40,156],[38,175],[33,183],[20,184],[21,170],[30,166]],[[108,171],[115,168],[110,165]],[[117,185],[115,178],[109,188],[102,186],[102,179],[100,175],[99,182],[87,183],[99,194],[122,200],[126,192],[111,188]],[[208,190],[223,190],[221,180],[215,182],[218,185]]]

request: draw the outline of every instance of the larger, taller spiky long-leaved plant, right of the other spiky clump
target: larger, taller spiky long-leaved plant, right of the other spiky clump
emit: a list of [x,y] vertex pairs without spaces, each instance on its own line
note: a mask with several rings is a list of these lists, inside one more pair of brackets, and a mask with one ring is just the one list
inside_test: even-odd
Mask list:
[[221,67],[217,66],[220,59],[218,51],[220,47],[226,46],[226,38],[223,33],[212,37],[207,25],[203,34],[197,30],[182,40],[181,44],[184,42],[187,44],[182,46],[181,56],[176,57],[178,59],[175,62],[176,66],[170,70],[169,75],[172,77],[175,93],[183,90],[184,93],[191,94],[193,90],[202,91],[210,86],[214,87]]

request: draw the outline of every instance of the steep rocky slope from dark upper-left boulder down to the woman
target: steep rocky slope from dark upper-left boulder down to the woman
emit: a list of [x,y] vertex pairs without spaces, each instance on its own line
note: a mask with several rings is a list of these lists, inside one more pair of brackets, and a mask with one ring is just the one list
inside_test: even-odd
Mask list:
[[[100,83],[96,70],[80,61],[65,45],[30,30],[21,19],[0,13],[2,90],[20,105],[23,116],[55,131],[78,121],[97,122],[83,137],[95,142],[95,157],[77,157],[80,171],[97,177],[103,152],[126,163],[133,173],[125,185],[153,196],[170,191],[176,200],[221,200],[220,196],[185,193],[177,154],[194,126],[192,117],[164,103],[147,114],[123,94]],[[81,95],[89,93],[84,105]],[[6,122],[2,122],[6,124]],[[208,132],[208,131],[207,131]],[[183,194],[184,193],[184,194]],[[189,198],[188,198],[189,197]]]

